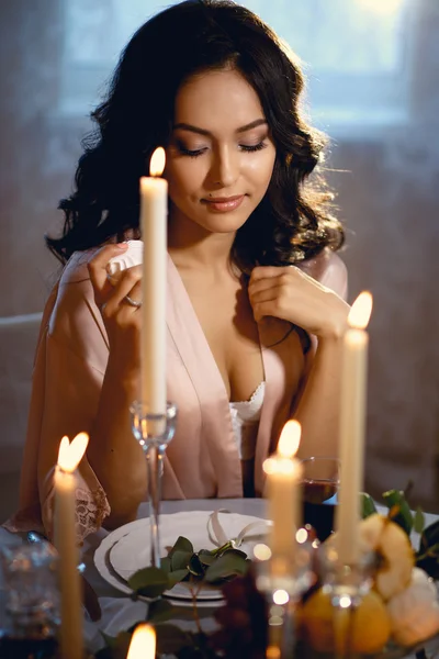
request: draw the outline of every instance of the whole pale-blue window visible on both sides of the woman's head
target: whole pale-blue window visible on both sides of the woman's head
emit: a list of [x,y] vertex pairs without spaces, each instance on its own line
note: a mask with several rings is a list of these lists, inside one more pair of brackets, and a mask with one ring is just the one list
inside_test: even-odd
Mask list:
[[[168,4],[168,3],[167,3]],[[59,109],[88,114],[135,30],[157,0],[65,0]],[[401,124],[408,113],[407,0],[244,0],[304,63],[313,120],[344,126]]]

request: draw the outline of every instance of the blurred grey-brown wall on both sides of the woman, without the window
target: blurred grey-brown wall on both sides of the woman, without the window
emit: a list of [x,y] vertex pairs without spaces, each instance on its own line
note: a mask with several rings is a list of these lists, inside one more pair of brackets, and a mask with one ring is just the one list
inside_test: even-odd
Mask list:
[[[413,500],[438,511],[439,3],[416,2],[413,121],[339,138],[331,166],[345,172],[331,183],[348,232],[350,301],[362,289],[374,295],[367,487],[376,495],[413,479]],[[59,226],[57,201],[71,189],[87,129],[56,112],[60,4],[0,3],[0,319],[44,305],[58,266],[43,234]]]

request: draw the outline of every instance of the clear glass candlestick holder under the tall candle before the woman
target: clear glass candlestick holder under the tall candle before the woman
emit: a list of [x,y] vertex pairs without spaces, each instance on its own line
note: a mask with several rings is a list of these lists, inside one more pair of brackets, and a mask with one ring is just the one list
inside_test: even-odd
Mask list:
[[140,445],[147,463],[150,523],[150,565],[160,567],[159,516],[161,474],[168,444],[176,432],[177,405],[168,403],[165,414],[151,412],[146,403],[135,401],[131,409],[133,435]]

